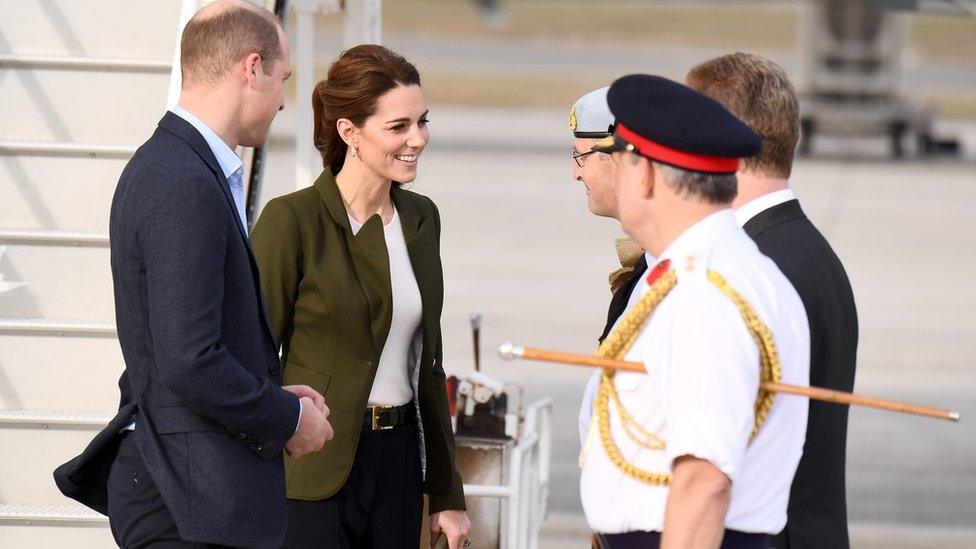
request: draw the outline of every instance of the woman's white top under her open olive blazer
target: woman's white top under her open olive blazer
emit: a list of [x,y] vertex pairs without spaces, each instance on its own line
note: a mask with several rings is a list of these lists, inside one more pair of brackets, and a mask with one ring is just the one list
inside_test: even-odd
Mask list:
[[[354,235],[363,226],[352,216],[349,216],[349,224]],[[417,277],[407,254],[400,214],[396,209],[393,210],[393,219],[383,226],[383,236],[386,238],[386,250],[390,256],[393,319],[380,354],[380,364],[376,369],[376,377],[373,378],[373,388],[367,404],[400,406],[413,400],[409,358],[414,336],[420,330],[423,303],[420,301]]]

